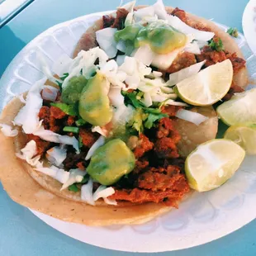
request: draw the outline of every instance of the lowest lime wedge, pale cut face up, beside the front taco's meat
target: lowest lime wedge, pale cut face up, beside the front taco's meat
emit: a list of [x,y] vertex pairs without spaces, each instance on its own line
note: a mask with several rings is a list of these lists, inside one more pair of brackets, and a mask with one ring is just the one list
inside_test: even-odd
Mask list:
[[245,151],[231,140],[210,140],[199,145],[185,163],[190,187],[206,192],[220,187],[243,162]]

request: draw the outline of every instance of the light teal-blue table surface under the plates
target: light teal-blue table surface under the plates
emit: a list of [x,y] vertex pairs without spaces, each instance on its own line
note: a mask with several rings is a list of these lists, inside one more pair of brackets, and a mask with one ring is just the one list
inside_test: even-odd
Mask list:
[[[22,47],[50,26],[91,12],[114,9],[119,2],[119,0],[36,0],[32,2],[0,29],[0,76]],[[137,2],[151,4],[154,1],[139,0]],[[166,5],[178,6],[199,16],[214,18],[215,21],[227,26],[235,26],[242,31],[241,18],[248,0],[165,0],[164,2]],[[0,185],[0,255],[131,256],[135,254],[100,249],[59,233],[37,219],[26,208],[13,202]],[[157,255],[255,256],[256,220],[235,233],[209,244]]]

